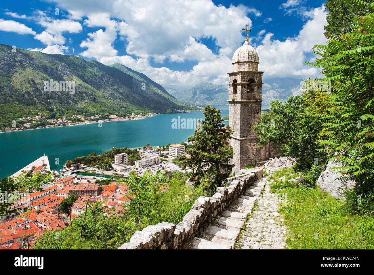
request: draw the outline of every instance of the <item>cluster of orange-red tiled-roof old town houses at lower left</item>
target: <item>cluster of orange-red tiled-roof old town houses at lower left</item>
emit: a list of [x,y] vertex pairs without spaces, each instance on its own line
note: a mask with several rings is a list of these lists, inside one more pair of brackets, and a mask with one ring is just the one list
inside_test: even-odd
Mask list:
[[[127,155],[120,154],[117,162],[127,163]],[[130,166],[131,167],[131,166]],[[33,173],[44,172],[43,166],[33,169]],[[42,169],[43,168],[43,169]],[[131,198],[127,195],[129,185],[122,182],[112,182],[108,185],[87,183],[78,175],[61,175],[50,184],[42,186],[43,191],[27,194],[18,198],[8,207],[8,210],[29,210],[25,215],[12,214],[9,219],[0,220],[0,249],[26,249],[27,238],[29,246],[42,236],[45,230],[59,230],[69,226],[70,217],[62,213],[60,204],[71,194],[77,194],[71,217],[82,214],[86,202],[104,202],[107,210],[120,214],[128,205]]]

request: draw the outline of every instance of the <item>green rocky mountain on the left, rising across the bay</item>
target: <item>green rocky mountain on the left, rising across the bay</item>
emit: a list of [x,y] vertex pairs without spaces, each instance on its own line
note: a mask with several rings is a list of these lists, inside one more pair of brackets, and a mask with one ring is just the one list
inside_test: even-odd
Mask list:
[[[74,81],[74,93],[53,89],[45,82]],[[106,66],[74,55],[44,54],[0,44],[0,123],[22,116],[51,113],[164,113],[198,110],[180,102],[142,73],[120,64]]]

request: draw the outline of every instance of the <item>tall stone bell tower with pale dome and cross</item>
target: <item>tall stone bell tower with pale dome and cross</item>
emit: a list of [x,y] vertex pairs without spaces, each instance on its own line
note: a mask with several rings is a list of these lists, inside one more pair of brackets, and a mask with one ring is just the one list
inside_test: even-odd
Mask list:
[[248,25],[242,30],[246,31],[246,39],[244,45],[235,51],[232,58],[233,72],[229,73],[229,123],[234,131],[230,145],[234,151],[235,174],[246,165],[256,165],[263,160],[263,149],[257,147],[258,137],[253,126],[260,122],[264,72],[258,71],[258,54],[248,44]]

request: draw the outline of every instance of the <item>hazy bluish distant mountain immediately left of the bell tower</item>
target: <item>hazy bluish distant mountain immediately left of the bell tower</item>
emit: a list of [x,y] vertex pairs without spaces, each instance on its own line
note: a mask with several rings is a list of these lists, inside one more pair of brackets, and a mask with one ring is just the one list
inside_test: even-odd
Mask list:
[[178,97],[178,100],[198,105],[226,105],[229,100],[229,88],[225,84],[202,82]]

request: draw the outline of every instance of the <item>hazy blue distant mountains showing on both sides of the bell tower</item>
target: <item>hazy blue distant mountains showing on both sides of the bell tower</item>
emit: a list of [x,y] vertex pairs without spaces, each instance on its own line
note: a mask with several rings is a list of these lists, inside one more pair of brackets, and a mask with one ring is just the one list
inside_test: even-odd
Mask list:
[[[300,94],[299,80],[271,79],[262,86],[263,105],[270,105],[273,100],[279,99],[284,102],[291,95]],[[226,105],[229,100],[229,87],[227,84],[215,85],[202,82],[195,85],[189,91],[168,89],[169,94],[180,101],[197,105]]]

